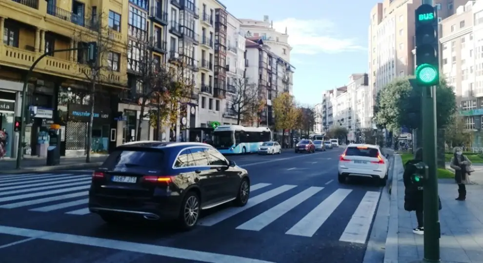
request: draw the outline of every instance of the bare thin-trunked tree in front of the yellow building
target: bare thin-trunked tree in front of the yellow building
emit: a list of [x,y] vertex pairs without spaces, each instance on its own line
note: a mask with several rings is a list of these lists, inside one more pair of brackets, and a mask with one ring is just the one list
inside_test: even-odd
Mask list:
[[[103,85],[120,84],[120,79],[115,77],[113,73],[121,70],[121,54],[124,52],[121,52],[123,47],[119,40],[118,29],[116,26],[110,27],[107,18],[107,14],[97,13],[93,14],[92,17],[79,19],[77,22],[81,29],[77,29],[73,34],[77,48],[79,48],[77,57],[75,57],[77,67],[81,77],[89,83],[87,94],[89,96],[90,119],[87,126],[86,163],[90,162],[96,89],[100,90]],[[89,43],[96,45],[96,54],[93,60],[90,60],[88,56]],[[125,83],[121,85],[125,85]]]

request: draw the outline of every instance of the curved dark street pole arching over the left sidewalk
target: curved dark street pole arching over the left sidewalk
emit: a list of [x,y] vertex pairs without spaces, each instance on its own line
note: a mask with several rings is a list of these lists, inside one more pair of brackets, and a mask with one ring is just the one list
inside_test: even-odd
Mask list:
[[20,121],[22,122],[20,133],[19,133],[19,146],[17,148],[17,165],[16,169],[20,169],[20,164],[21,164],[21,159],[22,159],[22,151],[23,151],[23,136],[25,134],[25,106],[27,104],[27,85],[28,81],[30,79],[30,75],[32,75],[32,72],[34,71],[35,66],[44,58],[45,56],[51,56],[54,55],[54,53],[57,52],[66,52],[66,51],[74,51],[74,50],[80,50],[83,48],[67,48],[67,49],[58,49],[58,50],[52,50],[50,52],[44,53],[42,56],[39,56],[32,66],[30,66],[30,69],[27,71],[27,74],[25,75],[25,78],[23,79],[23,89],[22,89],[22,105],[20,108]]

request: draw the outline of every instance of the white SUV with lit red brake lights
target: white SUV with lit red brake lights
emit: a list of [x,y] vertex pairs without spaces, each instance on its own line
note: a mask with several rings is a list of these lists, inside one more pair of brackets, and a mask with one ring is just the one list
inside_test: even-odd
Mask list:
[[348,177],[368,177],[379,180],[382,186],[387,182],[389,162],[377,145],[350,144],[339,157],[339,183]]

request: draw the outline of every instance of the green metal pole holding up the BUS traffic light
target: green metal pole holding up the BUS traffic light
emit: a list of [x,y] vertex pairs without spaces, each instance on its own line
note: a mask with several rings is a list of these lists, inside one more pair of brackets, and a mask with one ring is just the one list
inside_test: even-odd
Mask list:
[[424,261],[440,261],[440,220],[436,160],[436,86],[422,87],[423,162],[428,166],[424,180]]

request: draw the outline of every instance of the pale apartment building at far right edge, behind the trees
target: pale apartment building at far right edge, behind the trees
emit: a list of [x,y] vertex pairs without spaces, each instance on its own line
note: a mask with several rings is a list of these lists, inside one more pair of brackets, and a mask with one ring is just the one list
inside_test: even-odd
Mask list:
[[483,2],[468,1],[440,24],[440,75],[454,87],[473,147],[483,146]]

